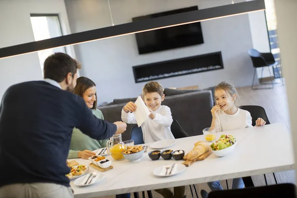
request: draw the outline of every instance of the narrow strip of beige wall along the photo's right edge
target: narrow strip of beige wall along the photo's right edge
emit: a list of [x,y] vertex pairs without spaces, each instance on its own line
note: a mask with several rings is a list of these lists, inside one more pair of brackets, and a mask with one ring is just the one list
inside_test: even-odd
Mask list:
[[290,109],[291,129],[297,159],[297,0],[275,0],[277,32],[281,50],[284,75],[286,76],[287,95]]

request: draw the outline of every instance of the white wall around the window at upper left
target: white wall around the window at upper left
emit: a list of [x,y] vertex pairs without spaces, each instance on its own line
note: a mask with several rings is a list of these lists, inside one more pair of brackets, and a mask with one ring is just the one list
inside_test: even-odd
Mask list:
[[[70,34],[64,0],[0,0],[0,48],[34,41],[30,13],[58,13],[63,33]],[[0,59],[0,98],[13,84],[42,78],[37,52]]]

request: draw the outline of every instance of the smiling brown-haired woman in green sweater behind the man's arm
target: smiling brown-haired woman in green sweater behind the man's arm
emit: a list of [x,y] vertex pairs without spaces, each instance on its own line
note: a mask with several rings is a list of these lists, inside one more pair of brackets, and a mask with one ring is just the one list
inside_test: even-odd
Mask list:
[[[92,110],[93,114],[96,117],[102,120],[104,119],[102,112],[96,108],[96,84],[92,80],[90,80],[87,77],[79,77],[76,81],[76,86],[74,88],[73,93],[82,97],[86,101],[87,106]],[[88,159],[89,157],[96,154],[91,150],[106,147],[107,141],[108,139],[97,141],[83,134],[79,129],[74,128],[72,132],[69,154],[67,158]]]

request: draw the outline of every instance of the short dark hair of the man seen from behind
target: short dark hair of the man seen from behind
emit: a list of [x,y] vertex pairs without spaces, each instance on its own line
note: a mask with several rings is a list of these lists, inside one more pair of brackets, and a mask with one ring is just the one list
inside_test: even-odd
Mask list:
[[62,82],[70,72],[72,76],[81,64],[66,53],[54,53],[47,57],[44,63],[44,78],[49,78],[58,83]]

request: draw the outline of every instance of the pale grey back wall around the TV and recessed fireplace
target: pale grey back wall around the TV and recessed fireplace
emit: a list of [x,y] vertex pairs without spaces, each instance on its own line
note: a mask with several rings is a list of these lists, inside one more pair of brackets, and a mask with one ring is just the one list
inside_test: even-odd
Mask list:
[[[238,2],[239,0],[235,1]],[[245,1],[245,0],[241,0]],[[199,9],[230,4],[230,0],[113,0],[114,24],[128,23],[132,17],[197,5]],[[107,1],[65,0],[73,33],[111,26]],[[145,83],[135,83],[132,66],[222,51],[224,69],[158,80],[163,87],[199,88],[226,80],[237,87],[250,86],[253,75],[247,49],[253,47],[248,15],[201,22],[204,44],[138,54],[135,35],[122,36],[75,46],[83,63],[81,74],[97,83],[100,101],[135,97]]]

